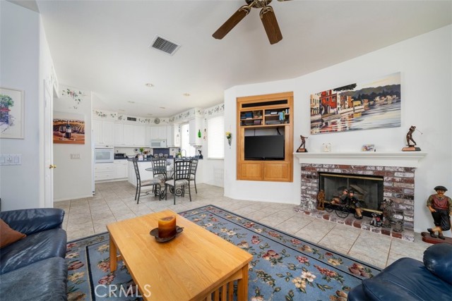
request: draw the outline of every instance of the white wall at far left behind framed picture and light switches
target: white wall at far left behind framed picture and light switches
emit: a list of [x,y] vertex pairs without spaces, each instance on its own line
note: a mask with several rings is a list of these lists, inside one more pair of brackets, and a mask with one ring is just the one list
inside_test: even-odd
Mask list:
[[0,1],[0,86],[24,91],[25,139],[1,139],[1,154],[22,154],[22,165],[0,166],[1,210],[40,207],[40,15]]

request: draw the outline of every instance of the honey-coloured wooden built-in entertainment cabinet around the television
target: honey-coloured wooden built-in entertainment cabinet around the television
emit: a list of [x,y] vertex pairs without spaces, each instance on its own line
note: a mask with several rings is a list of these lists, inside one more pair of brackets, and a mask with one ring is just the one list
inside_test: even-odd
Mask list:
[[[293,181],[292,106],[293,92],[237,97],[237,180]],[[284,159],[245,160],[253,135],[284,135]]]

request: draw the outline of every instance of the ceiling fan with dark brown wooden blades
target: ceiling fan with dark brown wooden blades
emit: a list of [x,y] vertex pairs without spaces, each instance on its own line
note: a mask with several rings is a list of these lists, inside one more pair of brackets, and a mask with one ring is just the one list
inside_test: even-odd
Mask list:
[[[212,35],[215,39],[222,39],[232,30],[246,15],[249,14],[251,8],[262,8],[261,16],[263,28],[266,30],[268,40],[270,44],[276,44],[283,39],[278,20],[276,20],[273,7],[269,6],[272,0],[245,0],[246,5],[239,8],[226,22],[218,28]],[[290,1],[290,0],[278,0],[278,1]]]

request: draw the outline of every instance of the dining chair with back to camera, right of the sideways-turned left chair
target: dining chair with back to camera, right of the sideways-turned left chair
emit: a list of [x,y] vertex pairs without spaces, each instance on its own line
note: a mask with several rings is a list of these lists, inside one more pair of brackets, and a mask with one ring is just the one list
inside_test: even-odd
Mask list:
[[176,204],[176,195],[184,197],[185,188],[188,186],[189,197],[191,202],[190,192],[190,166],[189,159],[174,159],[174,172],[172,179],[165,181],[165,199],[167,199],[167,189],[173,192],[174,204]]

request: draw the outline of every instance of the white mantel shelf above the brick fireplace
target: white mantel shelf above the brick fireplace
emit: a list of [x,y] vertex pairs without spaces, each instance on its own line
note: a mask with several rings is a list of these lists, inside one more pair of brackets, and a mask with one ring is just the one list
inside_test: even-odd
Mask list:
[[295,152],[300,164],[417,167],[427,152]]

